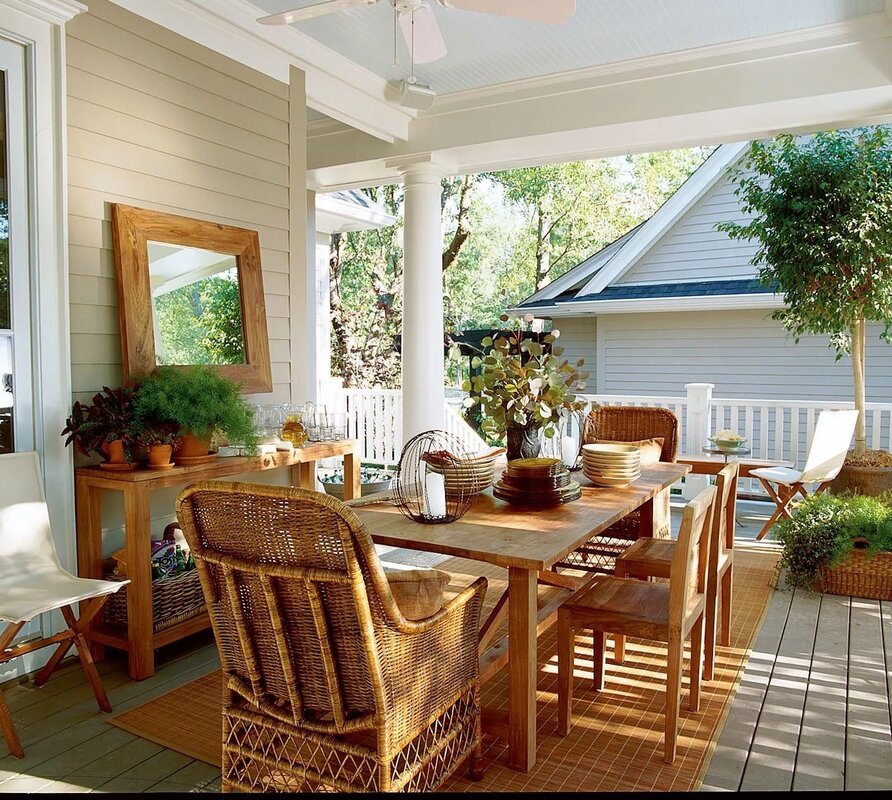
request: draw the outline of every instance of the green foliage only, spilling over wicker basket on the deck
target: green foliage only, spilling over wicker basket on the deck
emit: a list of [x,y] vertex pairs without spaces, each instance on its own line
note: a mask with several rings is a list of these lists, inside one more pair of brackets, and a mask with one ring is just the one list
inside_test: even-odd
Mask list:
[[856,546],[866,544],[870,555],[892,552],[892,495],[812,495],[772,535],[784,548],[787,585],[811,589],[822,568],[832,569]]

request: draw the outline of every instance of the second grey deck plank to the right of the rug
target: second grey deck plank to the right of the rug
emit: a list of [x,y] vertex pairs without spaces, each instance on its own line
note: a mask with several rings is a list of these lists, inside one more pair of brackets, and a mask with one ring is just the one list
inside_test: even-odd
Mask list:
[[789,791],[802,726],[820,598],[794,592],[741,791]]

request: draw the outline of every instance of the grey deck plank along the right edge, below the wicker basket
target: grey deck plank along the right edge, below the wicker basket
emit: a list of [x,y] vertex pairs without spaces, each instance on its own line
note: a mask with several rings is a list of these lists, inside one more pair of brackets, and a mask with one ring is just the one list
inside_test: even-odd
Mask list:
[[889,789],[892,731],[880,604],[852,600],[845,790]]

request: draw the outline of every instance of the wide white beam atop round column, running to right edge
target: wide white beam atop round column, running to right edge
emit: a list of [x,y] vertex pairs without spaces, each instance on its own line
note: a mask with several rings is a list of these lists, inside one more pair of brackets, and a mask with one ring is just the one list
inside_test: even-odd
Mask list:
[[648,60],[567,91],[501,94],[491,104],[420,116],[409,141],[394,145],[349,130],[320,132],[308,143],[310,179],[326,190],[386,183],[398,175],[385,159],[418,152],[439,153],[460,173],[887,121],[892,24],[872,19],[854,41],[849,31],[754,45],[668,72]]

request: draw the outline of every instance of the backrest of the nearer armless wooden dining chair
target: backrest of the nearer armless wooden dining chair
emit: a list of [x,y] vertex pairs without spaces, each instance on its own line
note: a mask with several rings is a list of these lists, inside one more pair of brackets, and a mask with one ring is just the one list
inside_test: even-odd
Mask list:
[[707,486],[685,506],[669,572],[669,625],[680,628],[688,603],[706,590],[716,487]]

